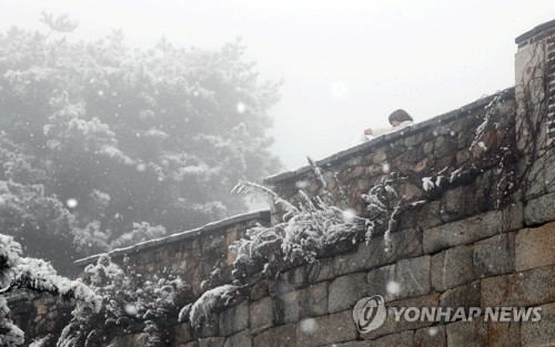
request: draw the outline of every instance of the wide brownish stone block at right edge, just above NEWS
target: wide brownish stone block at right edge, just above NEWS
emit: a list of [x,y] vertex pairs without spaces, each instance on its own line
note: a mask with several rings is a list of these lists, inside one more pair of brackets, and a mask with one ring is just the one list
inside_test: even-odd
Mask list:
[[555,266],[482,279],[482,306],[535,306],[555,302]]

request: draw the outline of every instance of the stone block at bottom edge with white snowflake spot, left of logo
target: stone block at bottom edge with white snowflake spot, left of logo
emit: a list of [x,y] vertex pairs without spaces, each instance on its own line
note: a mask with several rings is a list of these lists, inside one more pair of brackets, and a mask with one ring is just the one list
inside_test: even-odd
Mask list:
[[322,346],[354,340],[359,336],[352,310],[307,318],[296,325],[297,346]]

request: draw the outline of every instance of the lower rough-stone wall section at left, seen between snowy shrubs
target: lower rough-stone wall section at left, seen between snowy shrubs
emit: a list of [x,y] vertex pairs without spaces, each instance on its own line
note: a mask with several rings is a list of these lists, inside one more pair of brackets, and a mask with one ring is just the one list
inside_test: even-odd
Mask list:
[[[230,280],[230,265],[233,259],[229,246],[244,237],[248,228],[269,223],[269,211],[252,212],[196,229],[115,249],[109,255],[120,265],[127,256],[128,264],[141,274],[144,280],[168,278],[170,275],[180,276],[198,297],[202,293],[202,282],[206,280],[204,285],[214,286]],[[82,272],[87,265],[94,264],[99,256],[80,259],[75,262],[75,266]],[[219,275],[211,276],[216,268],[220,269]],[[44,337],[48,334],[59,336],[71,320],[71,312],[74,308],[74,305],[60,302],[46,293],[12,296],[8,298],[8,303],[11,319],[26,334],[24,346],[32,343],[34,337]]]

